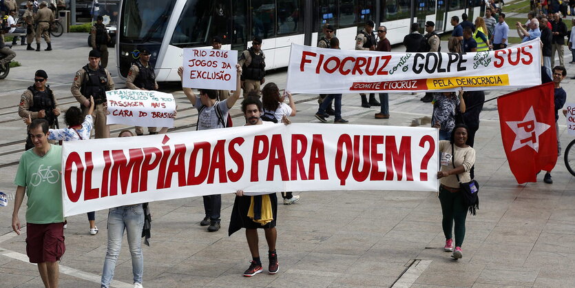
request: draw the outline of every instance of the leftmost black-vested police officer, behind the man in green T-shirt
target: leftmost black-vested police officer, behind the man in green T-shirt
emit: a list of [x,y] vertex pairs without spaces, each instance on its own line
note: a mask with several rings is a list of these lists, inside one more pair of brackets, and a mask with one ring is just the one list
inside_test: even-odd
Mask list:
[[[48,74],[44,70],[36,71],[36,74],[34,74],[34,85],[28,87],[20,98],[18,115],[31,120],[36,118],[46,119],[50,127],[54,128],[58,123],[60,109],[50,85],[46,85],[47,82]],[[30,134],[26,138],[25,147],[26,150],[34,147]]]

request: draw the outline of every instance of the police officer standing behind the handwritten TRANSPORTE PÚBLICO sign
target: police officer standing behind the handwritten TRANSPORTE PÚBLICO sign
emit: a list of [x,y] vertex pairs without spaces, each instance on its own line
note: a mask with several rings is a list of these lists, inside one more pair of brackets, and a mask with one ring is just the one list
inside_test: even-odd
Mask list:
[[[146,48],[140,50],[140,59],[134,61],[132,68],[129,68],[126,78],[126,87],[133,90],[158,90],[156,73],[154,67],[149,63],[149,51]],[[148,127],[150,135],[158,134],[156,127]],[[140,126],[136,126],[136,135],[144,134]]]

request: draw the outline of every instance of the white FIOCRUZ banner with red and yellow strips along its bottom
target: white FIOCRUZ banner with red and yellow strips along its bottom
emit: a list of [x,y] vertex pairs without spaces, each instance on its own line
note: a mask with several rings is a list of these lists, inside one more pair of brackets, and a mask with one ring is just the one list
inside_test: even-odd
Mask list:
[[541,84],[539,39],[510,48],[457,53],[333,50],[291,45],[292,93],[500,90]]

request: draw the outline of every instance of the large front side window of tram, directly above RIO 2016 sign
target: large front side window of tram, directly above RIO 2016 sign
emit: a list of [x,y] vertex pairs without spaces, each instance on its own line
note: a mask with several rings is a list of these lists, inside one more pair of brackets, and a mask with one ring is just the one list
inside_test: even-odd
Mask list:
[[[211,34],[218,34],[218,25],[225,25],[225,21],[222,23],[222,19],[216,19],[216,15],[212,1],[187,1],[170,44],[178,47],[209,45]],[[223,29],[225,31],[225,26]]]

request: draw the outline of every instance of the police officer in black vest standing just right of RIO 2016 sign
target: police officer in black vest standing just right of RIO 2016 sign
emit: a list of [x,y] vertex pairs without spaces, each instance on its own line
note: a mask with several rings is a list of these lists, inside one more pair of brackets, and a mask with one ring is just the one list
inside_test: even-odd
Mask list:
[[266,79],[266,56],[262,51],[262,39],[260,37],[253,37],[251,40],[251,48],[244,50],[240,54],[238,64],[242,66],[242,88],[244,89],[244,98],[248,92],[255,90],[260,93],[260,85],[265,83]]

